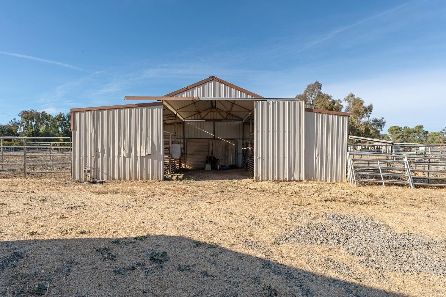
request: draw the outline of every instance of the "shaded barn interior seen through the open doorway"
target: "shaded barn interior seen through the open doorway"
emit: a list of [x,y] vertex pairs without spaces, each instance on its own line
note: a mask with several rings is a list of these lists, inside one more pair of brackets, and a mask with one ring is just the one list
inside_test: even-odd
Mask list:
[[254,100],[170,97],[162,102],[165,174],[181,169],[193,176],[192,170],[209,164],[211,170],[227,170],[222,176],[240,176],[242,170],[253,175]]

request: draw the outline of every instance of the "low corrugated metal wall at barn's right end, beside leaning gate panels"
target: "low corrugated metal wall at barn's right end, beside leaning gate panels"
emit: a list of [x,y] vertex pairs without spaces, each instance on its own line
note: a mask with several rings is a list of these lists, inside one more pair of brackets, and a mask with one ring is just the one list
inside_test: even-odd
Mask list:
[[348,116],[305,112],[305,179],[346,179]]

